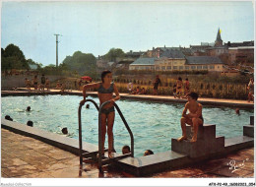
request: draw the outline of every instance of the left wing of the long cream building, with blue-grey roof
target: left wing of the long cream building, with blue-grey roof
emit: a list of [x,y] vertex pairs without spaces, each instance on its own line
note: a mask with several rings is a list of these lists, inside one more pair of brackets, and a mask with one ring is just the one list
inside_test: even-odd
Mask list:
[[156,58],[138,58],[130,64],[129,70],[155,70]]

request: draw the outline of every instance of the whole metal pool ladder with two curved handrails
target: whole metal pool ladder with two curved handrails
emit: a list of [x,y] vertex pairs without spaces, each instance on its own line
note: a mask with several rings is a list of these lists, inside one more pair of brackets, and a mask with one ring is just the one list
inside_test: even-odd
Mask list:
[[[89,152],[89,153],[83,153],[83,141],[82,141],[82,120],[81,120],[81,110],[82,110],[82,106],[87,102],[87,101],[91,101],[95,104],[96,106],[96,109],[98,110],[98,152]],[[102,131],[101,131],[101,113],[102,113],[102,108],[105,104],[109,103],[110,101],[105,101],[101,104],[100,108],[98,107],[98,105],[96,104],[96,101],[93,100],[93,99],[87,99],[85,101],[84,104],[80,104],[79,105],[79,109],[78,109],[78,121],[79,121],[79,156],[80,156],[80,164],[82,165],[83,162],[85,160],[87,160],[88,158],[92,158],[93,159],[93,156],[96,156],[96,154],[98,153],[98,168],[101,169],[101,166],[103,164],[108,164],[110,161],[112,160],[118,160],[120,158],[123,158],[123,157],[127,157],[127,156],[134,156],[134,138],[133,138],[133,133],[128,125],[128,123],[126,122],[120,108],[118,107],[118,105],[114,102],[113,105],[114,107],[116,108],[117,112],[119,113],[126,129],[128,130],[129,134],[130,134],[130,137],[131,137],[131,153],[129,154],[125,154],[125,155],[121,155],[121,156],[115,156],[113,158],[103,158],[102,159],[102,152],[101,152],[101,144],[102,144],[102,140],[101,140],[101,134],[102,134]],[[105,150],[107,151],[107,150]],[[83,159],[83,158],[86,158],[86,159]]]

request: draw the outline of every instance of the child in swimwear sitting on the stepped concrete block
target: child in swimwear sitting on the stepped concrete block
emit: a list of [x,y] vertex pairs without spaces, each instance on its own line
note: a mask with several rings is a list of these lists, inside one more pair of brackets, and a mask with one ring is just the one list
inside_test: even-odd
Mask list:
[[[198,94],[196,93],[187,94],[188,102],[185,104],[185,108],[182,112],[182,117],[180,119],[182,136],[177,139],[178,142],[181,142],[182,140],[187,139],[186,124],[191,125],[192,126],[191,129],[194,131],[193,137],[190,142],[193,143],[197,141],[198,126],[203,125],[204,123],[204,118],[202,115],[203,106],[202,104],[197,102],[197,98],[198,98]],[[188,114],[187,114],[187,110],[189,110]]]

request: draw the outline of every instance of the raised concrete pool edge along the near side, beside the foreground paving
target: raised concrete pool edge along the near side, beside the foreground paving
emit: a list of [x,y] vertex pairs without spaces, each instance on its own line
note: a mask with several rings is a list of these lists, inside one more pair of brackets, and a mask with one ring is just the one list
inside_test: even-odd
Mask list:
[[[32,137],[36,140],[39,140],[41,142],[55,146],[64,151],[68,151],[79,156],[79,141],[76,139],[72,139],[64,135],[46,132],[35,127],[30,127],[25,124],[9,121],[3,118],[1,119],[1,124],[1,127],[4,129],[10,130],[14,133]],[[208,130],[206,130],[206,132]],[[208,133],[213,134],[213,132]],[[158,153],[151,156],[125,157],[118,160],[113,160],[112,164],[136,176],[150,176],[153,173],[161,172],[166,169],[174,170],[183,166],[187,166],[189,164],[200,163],[201,161],[211,158],[216,159],[219,157],[226,156],[227,154],[230,153],[235,153],[242,149],[254,147],[254,134],[251,134],[251,132],[249,134],[247,133],[248,132],[244,132],[245,136],[225,139],[224,149],[221,149],[220,151],[211,153],[209,155],[194,155],[195,157],[191,157],[189,156],[190,153],[184,154],[177,153],[174,151],[167,151],[164,153]],[[224,138],[216,138],[220,140],[222,139],[221,142],[223,142]],[[185,142],[183,143],[183,147],[184,145],[189,146],[189,144],[190,143]],[[180,147],[182,146],[180,145]],[[85,153],[97,152],[97,146],[90,143],[83,142],[83,148],[83,151]]]

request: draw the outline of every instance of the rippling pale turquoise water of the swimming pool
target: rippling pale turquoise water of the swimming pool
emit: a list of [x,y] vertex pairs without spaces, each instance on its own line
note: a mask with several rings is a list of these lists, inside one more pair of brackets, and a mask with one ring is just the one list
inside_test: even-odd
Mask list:
[[[89,98],[98,103],[97,97]],[[57,134],[61,134],[63,127],[68,127],[69,136],[78,139],[78,106],[82,96],[4,96],[1,99],[2,117],[10,115],[14,121],[24,124],[32,120],[34,127]],[[92,102],[89,103],[89,109],[85,106],[82,109],[83,141],[97,145],[97,110]],[[184,104],[130,99],[121,99],[116,103],[133,132],[135,156],[143,156],[145,150],[154,153],[170,151],[171,138],[181,136],[179,120]],[[29,105],[32,111],[27,112]],[[249,116],[252,115],[253,110],[248,109],[240,109],[240,115],[236,115],[234,108],[203,108],[205,123],[216,124],[217,135],[225,138],[242,136],[242,127],[249,124]],[[130,146],[130,136],[117,112],[113,133],[115,150],[121,153],[124,145]]]

